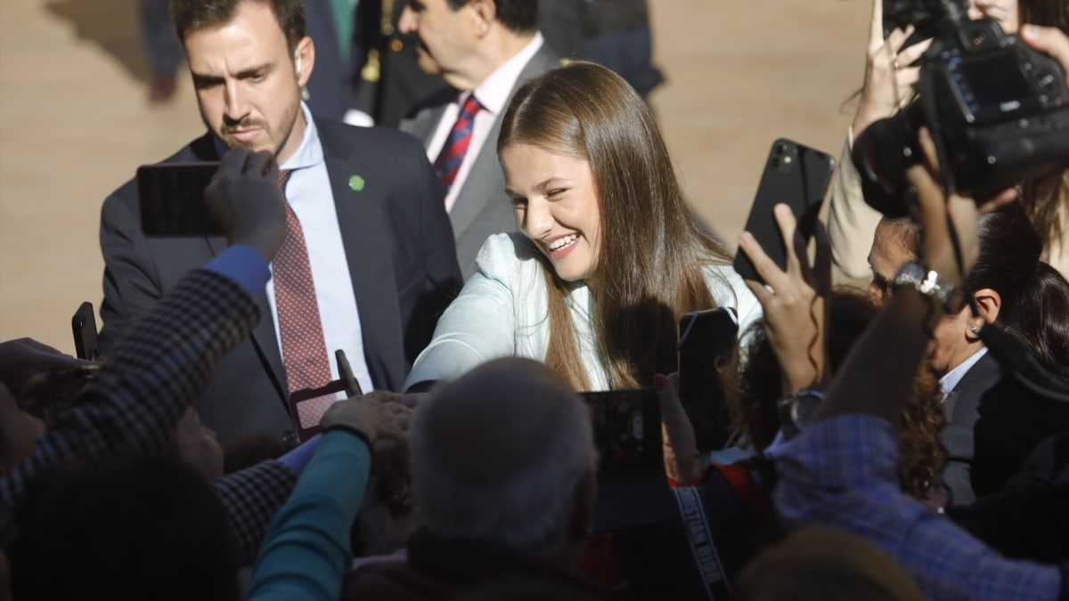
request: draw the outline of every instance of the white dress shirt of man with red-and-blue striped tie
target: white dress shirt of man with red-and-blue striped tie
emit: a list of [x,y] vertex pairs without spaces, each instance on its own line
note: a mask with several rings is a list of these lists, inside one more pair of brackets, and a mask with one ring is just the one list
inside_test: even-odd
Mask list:
[[[434,164],[441,153],[441,148],[446,145],[446,139],[449,138],[449,133],[452,132],[453,124],[456,123],[456,117],[460,115],[461,107],[467,101],[467,97],[474,93],[476,99],[482,105],[482,110],[475,115],[475,124],[471,126],[471,142],[468,145],[467,153],[464,154],[460,171],[456,172],[456,180],[453,181],[452,187],[449,188],[449,194],[446,195],[447,212],[453,209],[456,197],[460,195],[460,190],[464,187],[464,182],[467,180],[467,174],[471,171],[471,165],[486,142],[490,130],[494,128],[494,122],[508,108],[509,98],[512,96],[512,89],[516,86],[516,80],[520,79],[520,73],[534,58],[534,53],[542,47],[542,34],[536,33],[534,37],[522,50],[506,61],[505,64],[497,67],[497,71],[490,74],[490,77],[484,79],[478,88],[472,92],[464,92],[456,98],[453,98],[453,102],[449,103],[449,106],[443,112],[441,121],[438,122],[438,128],[434,130],[434,136],[431,137],[431,141],[427,145],[427,157],[431,164]],[[497,140],[493,140],[492,143],[496,144]]]

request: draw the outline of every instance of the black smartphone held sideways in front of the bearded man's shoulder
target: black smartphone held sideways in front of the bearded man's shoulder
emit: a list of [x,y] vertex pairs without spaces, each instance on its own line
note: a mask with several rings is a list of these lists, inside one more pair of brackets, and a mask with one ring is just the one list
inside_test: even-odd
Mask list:
[[144,235],[222,235],[222,229],[204,203],[204,189],[218,168],[218,163],[138,167],[138,200]]

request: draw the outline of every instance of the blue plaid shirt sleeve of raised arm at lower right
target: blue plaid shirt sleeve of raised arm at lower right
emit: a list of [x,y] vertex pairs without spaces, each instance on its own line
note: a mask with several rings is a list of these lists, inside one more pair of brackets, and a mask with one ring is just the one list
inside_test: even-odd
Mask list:
[[888,553],[929,599],[1054,600],[1056,567],[1006,559],[898,490],[897,436],[867,414],[819,421],[776,457],[775,502],[791,525],[841,528]]

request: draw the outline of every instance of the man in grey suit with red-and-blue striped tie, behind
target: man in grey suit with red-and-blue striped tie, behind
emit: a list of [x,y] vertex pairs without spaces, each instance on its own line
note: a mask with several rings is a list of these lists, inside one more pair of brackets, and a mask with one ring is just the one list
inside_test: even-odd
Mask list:
[[418,38],[420,67],[450,86],[420,103],[401,129],[423,140],[447,190],[465,278],[487,236],[516,229],[497,136],[515,89],[560,62],[538,18],[536,0],[412,0],[401,14],[398,29]]

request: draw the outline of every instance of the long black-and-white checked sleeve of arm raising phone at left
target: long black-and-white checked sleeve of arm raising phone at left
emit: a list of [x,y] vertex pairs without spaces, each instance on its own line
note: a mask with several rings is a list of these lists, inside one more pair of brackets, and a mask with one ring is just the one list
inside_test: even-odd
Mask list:
[[259,318],[255,300],[229,278],[187,274],[115,344],[33,454],[0,478],[0,503],[13,506],[35,475],[56,465],[162,448],[219,358]]

